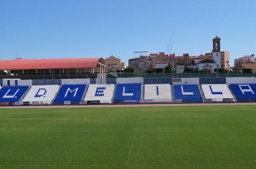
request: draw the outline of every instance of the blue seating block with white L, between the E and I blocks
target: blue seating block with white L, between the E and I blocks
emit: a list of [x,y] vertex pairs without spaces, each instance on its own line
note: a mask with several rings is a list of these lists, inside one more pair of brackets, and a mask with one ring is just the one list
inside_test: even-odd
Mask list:
[[116,85],[115,101],[138,102],[141,97],[140,83],[125,83]]

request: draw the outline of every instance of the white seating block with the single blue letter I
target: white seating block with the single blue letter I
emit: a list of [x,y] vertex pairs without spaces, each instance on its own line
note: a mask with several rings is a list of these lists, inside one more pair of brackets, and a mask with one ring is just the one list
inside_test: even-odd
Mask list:
[[145,85],[144,99],[154,100],[154,102],[171,102],[172,92],[170,84]]

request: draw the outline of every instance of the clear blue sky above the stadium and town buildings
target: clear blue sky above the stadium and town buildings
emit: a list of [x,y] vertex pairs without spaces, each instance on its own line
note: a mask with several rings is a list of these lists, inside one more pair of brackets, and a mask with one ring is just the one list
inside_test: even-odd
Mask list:
[[134,51],[198,56],[215,34],[230,61],[256,54],[256,1],[1,0],[0,59],[120,56]]

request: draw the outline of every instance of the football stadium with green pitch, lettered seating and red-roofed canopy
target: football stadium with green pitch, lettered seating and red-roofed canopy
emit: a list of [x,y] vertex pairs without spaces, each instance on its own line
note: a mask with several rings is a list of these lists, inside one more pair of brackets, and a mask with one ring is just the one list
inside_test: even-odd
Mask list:
[[256,166],[253,76],[105,78],[102,58],[0,69],[0,168]]

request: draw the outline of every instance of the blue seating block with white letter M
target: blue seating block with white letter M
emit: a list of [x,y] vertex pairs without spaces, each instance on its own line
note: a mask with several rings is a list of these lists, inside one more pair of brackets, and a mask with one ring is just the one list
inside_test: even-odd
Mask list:
[[63,103],[64,101],[71,101],[71,103],[79,103],[81,101],[86,85],[62,85],[56,96],[54,103]]

